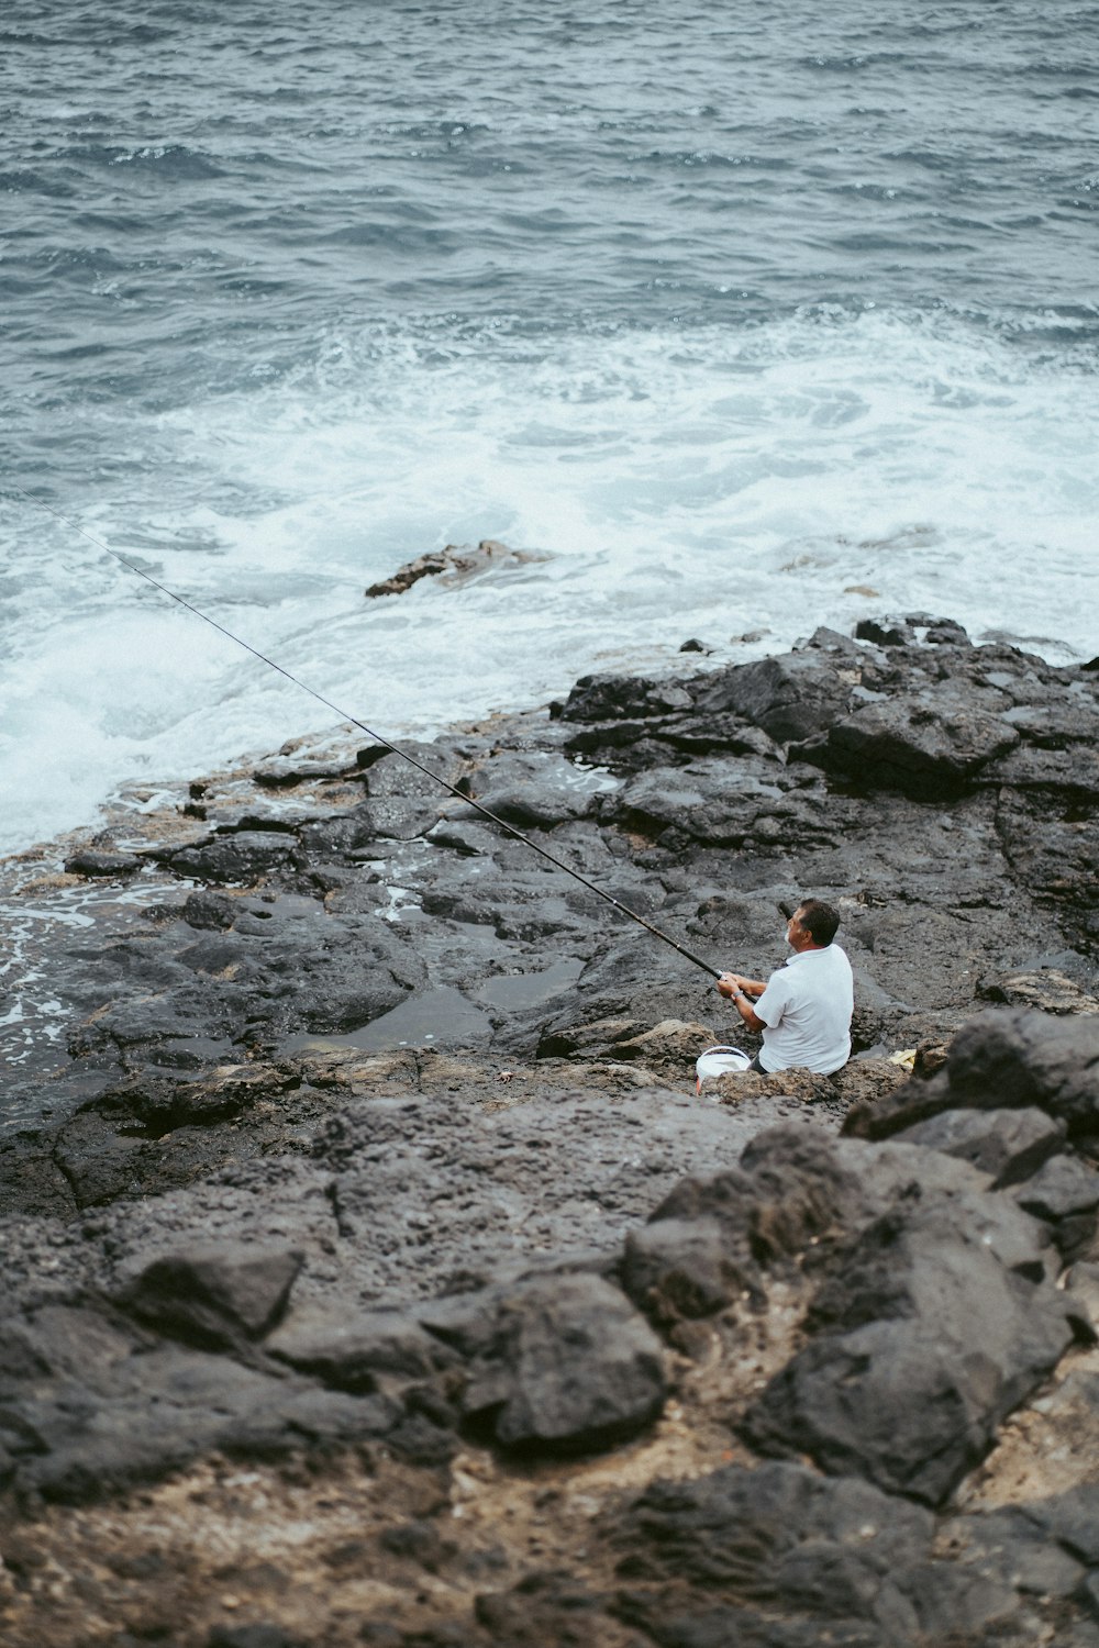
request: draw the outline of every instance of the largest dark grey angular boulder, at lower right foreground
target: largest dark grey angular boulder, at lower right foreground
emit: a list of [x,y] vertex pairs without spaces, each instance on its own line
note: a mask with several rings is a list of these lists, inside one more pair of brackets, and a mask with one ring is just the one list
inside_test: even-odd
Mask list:
[[1005,1267],[972,1213],[957,1228],[934,1203],[870,1226],[809,1325],[816,1338],[748,1409],[745,1437],[928,1505],[984,1457],[1073,1337],[1051,1289]]

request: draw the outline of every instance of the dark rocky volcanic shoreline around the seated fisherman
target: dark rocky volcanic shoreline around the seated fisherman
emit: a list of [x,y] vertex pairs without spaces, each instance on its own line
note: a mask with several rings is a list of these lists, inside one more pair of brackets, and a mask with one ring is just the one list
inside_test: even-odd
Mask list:
[[857,1056],[709,1098],[705,976],[381,747],[8,860],[101,893],[7,1084],[5,1641],[1097,1648],[1097,733],[908,615],[409,747],[718,966],[839,903]]

